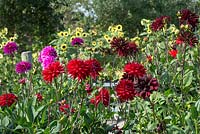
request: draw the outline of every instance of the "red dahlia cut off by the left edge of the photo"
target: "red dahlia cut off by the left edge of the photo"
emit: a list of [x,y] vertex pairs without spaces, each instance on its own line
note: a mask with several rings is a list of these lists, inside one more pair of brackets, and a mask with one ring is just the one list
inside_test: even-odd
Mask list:
[[17,101],[17,96],[12,93],[3,94],[0,96],[0,107],[8,106],[10,107],[13,103]]

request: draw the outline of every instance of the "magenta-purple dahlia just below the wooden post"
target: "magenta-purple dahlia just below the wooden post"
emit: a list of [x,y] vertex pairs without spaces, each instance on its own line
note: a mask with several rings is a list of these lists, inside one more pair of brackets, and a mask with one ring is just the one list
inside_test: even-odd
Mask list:
[[16,73],[18,74],[23,74],[23,73],[26,73],[28,72],[29,70],[31,70],[31,63],[30,62],[27,62],[27,61],[21,61],[21,62],[18,62],[16,65],[15,65],[15,71]]

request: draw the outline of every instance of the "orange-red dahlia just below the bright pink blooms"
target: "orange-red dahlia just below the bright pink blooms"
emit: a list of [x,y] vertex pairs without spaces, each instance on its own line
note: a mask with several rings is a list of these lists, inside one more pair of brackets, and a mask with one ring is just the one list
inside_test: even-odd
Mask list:
[[47,68],[42,71],[43,79],[51,83],[56,77],[64,73],[64,67],[60,62],[56,61],[51,63]]

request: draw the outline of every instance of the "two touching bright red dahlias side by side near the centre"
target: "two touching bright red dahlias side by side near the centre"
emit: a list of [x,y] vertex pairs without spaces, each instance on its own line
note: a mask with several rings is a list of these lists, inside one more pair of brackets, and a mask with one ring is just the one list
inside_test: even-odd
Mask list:
[[82,81],[89,76],[96,79],[102,69],[103,68],[101,68],[100,63],[96,59],[89,59],[85,61],[73,59],[67,64],[68,74],[73,79],[77,78],[79,81]]

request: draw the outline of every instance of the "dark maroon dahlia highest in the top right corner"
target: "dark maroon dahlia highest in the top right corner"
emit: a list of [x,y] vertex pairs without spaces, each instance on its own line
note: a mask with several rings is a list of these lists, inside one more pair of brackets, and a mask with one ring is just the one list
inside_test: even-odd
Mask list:
[[195,28],[199,23],[198,22],[199,16],[191,12],[190,10],[183,9],[179,13],[180,13],[179,17],[180,24],[188,24],[191,25],[192,28]]

